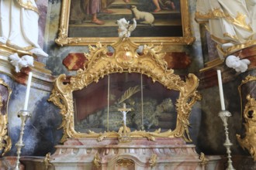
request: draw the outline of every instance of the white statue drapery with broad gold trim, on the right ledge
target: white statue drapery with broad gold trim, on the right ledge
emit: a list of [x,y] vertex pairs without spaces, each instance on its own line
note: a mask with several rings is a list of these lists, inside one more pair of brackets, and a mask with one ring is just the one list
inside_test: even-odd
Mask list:
[[255,4],[254,0],[198,0],[195,19],[206,25],[222,49],[227,49],[256,39]]

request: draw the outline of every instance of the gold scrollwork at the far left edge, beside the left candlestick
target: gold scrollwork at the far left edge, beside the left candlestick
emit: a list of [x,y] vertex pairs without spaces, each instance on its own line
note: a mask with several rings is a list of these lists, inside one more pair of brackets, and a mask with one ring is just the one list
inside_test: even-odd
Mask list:
[[[0,79],[0,86],[4,86],[7,89],[8,98],[6,99],[5,106],[3,104],[3,98],[0,93],[0,150],[3,149],[2,155],[5,155],[6,152],[8,152],[12,148],[12,141],[9,135],[7,134],[7,124],[8,124],[8,102],[9,97],[12,93],[12,90],[9,88],[9,86],[4,82],[4,80]],[[5,107],[5,113],[2,113],[2,107]]]

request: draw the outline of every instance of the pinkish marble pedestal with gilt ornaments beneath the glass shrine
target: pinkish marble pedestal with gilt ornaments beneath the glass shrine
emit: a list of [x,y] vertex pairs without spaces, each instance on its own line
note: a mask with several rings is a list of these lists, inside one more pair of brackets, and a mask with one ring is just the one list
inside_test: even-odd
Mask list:
[[68,139],[57,145],[50,163],[55,169],[204,169],[195,145],[182,138]]

